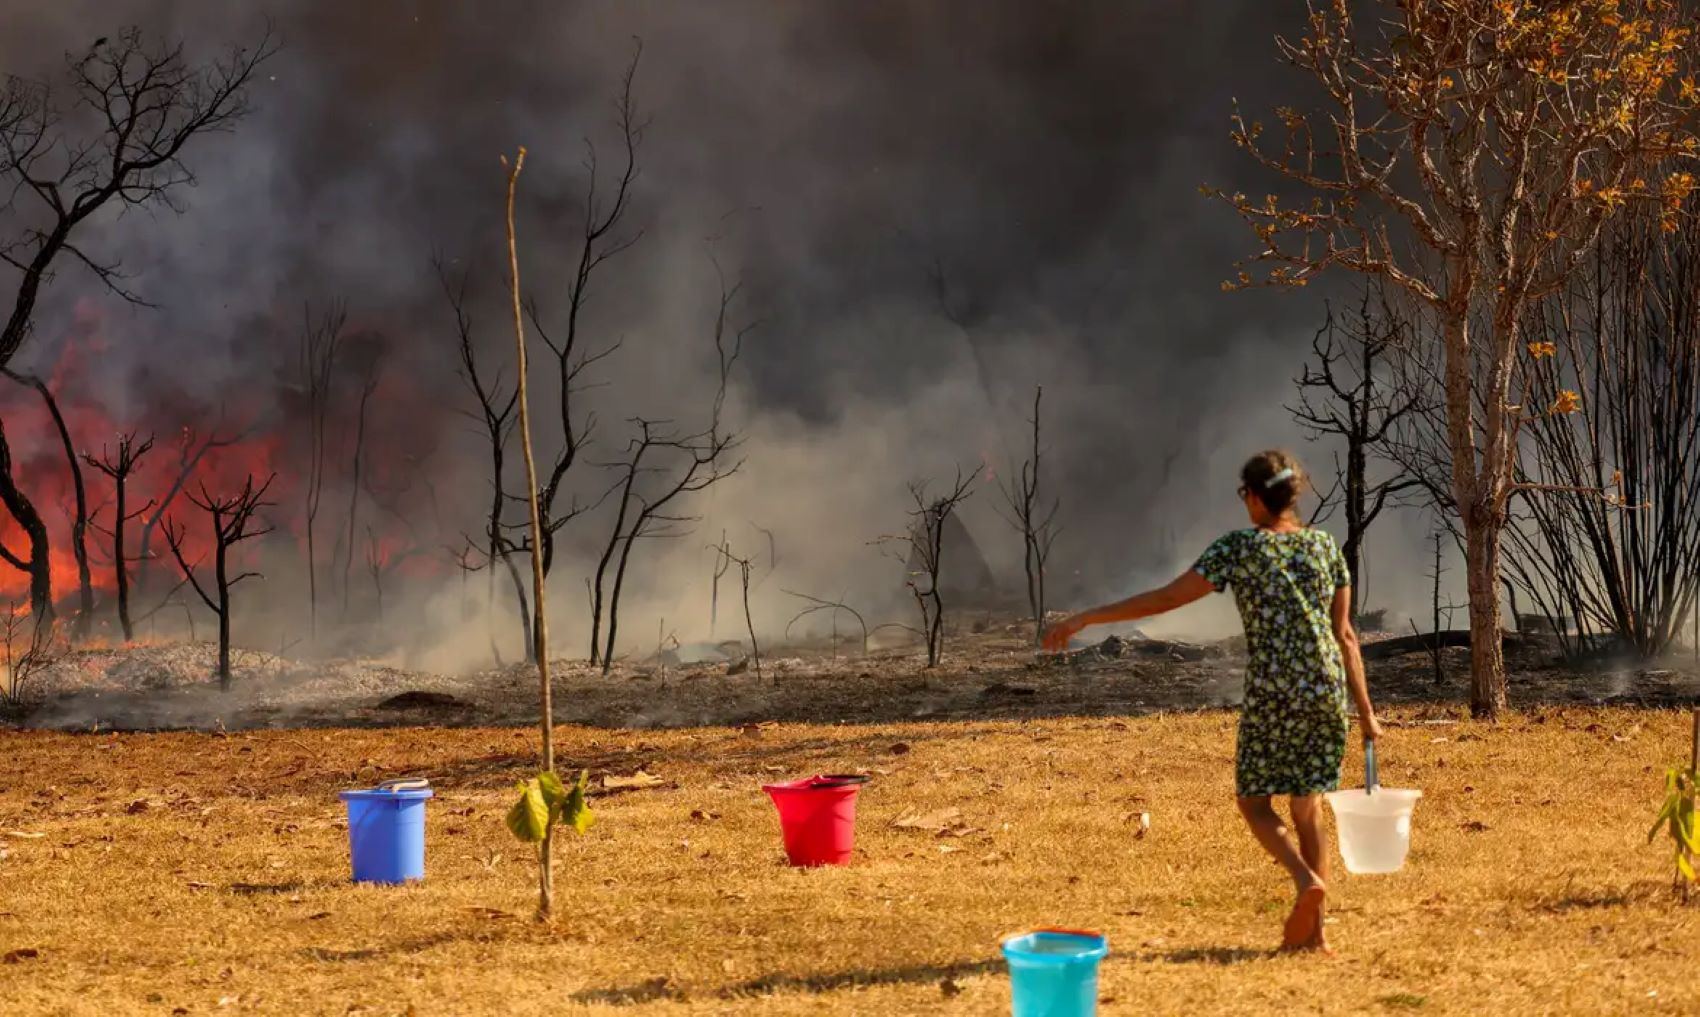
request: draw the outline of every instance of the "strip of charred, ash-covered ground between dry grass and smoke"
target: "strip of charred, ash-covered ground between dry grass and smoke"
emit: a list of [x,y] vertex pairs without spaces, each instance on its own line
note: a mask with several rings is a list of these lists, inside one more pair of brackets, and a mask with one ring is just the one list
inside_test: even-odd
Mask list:
[[[1243,639],[1212,645],[1112,636],[1083,650],[1034,651],[1032,624],[976,624],[925,667],[916,646],[862,653],[852,646],[763,648],[743,643],[672,646],[609,673],[583,660],[551,663],[563,724],[672,728],[787,723],[1110,716],[1238,706]],[[1368,638],[1374,645],[1374,636]],[[5,723],[39,730],[241,730],[306,726],[530,724],[537,672],[510,665],[445,675],[362,660],[292,660],[238,653],[230,690],[212,679],[211,643],[83,650],[22,690]],[[1561,663],[1556,645],[1508,646],[1513,704],[1700,702],[1700,665]],[[1431,704],[1447,713],[1469,696],[1469,650],[1443,651],[1436,682],[1426,651],[1368,663],[1384,704]]]

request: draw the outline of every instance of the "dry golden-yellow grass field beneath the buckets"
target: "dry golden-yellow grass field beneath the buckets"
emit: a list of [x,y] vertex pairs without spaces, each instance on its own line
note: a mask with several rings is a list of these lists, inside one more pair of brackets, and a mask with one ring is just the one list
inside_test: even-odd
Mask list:
[[[1644,842],[1686,716],[1445,716],[1391,711],[1411,862],[1336,871],[1331,959],[1270,952],[1227,713],[563,728],[563,767],[663,784],[597,798],[552,927],[502,825],[534,731],[3,733],[0,1012],[984,1015],[998,937],[1047,923],[1108,934],[1105,1014],[1700,1012],[1700,908]],[[758,784],[850,769],[855,864],[785,867]],[[335,793],[403,774],[437,786],[428,879],[350,886]]]

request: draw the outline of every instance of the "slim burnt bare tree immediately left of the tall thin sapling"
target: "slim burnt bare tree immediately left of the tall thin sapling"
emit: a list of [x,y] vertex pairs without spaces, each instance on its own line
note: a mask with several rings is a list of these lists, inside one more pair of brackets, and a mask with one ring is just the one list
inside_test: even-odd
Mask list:
[[[515,408],[518,406],[518,389],[508,388],[502,379],[502,371],[498,369],[491,376],[484,376],[478,366],[478,352],[473,342],[473,318],[466,310],[466,289],[468,276],[462,274],[461,279],[452,281],[449,277],[447,267],[442,260],[437,260],[437,279],[442,282],[444,296],[449,301],[449,308],[454,311],[454,332],[456,332],[456,352],[461,359],[459,376],[461,383],[466,384],[468,391],[478,401],[478,412],[469,413],[490,449],[490,510],[484,515],[484,539],[479,551],[484,556],[481,565],[486,570],[484,578],[484,611],[488,617],[495,617],[496,605],[496,568],[507,571],[508,580],[513,583],[513,599],[518,609],[520,636],[525,645],[522,651],[527,662],[536,656],[536,648],[532,645],[532,612],[530,597],[525,592],[525,580],[520,577],[518,565],[513,561],[515,544],[508,539],[503,524],[503,510],[507,508],[508,497],[503,490],[503,481],[507,478],[507,454],[508,439],[513,435],[515,425]],[[468,537],[468,546],[473,539]],[[469,558],[461,558],[462,568],[476,570]],[[496,645],[495,631],[490,633],[491,653],[496,656],[496,663],[502,663],[502,651]]]

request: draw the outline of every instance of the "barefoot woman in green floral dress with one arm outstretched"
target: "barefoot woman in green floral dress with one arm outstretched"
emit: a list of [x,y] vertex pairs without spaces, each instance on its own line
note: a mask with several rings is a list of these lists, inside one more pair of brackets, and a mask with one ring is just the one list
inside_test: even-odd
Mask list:
[[[1234,592],[1250,655],[1234,765],[1239,813],[1294,881],[1297,900],[1282,946],[1326,952],[1329,845],[1321,794],[1340,786],[1346,694],[1357,706],[1365,741],[1380,735],[1380,724],[1352,628],[1345,556],[1333,537],[1299,520],[1302,468],[1285,452],[1260,452],[1239,471],[1239,481],[1251,529],[1219,537],[1163,588],[1057,622],[1046,633],[1046,648],[1068,648],[1088,626],[1149,617],[1205,594]],[[1297,842],[1275,811],[1277,794],[1289,799]]]

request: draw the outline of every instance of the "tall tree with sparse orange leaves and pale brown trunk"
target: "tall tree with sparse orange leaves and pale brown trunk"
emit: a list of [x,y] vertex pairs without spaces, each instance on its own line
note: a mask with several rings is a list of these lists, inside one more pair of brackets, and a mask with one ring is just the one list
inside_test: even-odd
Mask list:
[[[1504,709],[1499,537],[1518,490],[1523,325],[1625,204],[1674,216],[1700,43],[1680,0],[1311,0],[1280,54],[1321,111],[1280,109],[1282,139],[1234,114],[1234,141],[1295,194],[1232,204],[1258,236],[1238,286],[1350,269],[1438,320],[1452,503],[1464,531],[1470,707]],[[1659,167],[1668,172],[1656,173]],[[1256,276],[1253,274],[1256,272]]]

